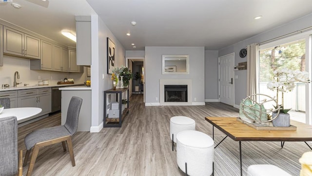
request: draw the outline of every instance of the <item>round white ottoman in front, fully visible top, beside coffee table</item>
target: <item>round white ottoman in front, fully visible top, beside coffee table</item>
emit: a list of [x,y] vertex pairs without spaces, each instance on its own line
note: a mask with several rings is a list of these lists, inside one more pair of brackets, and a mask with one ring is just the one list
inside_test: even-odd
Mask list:
[[190,176],[210,176],[214,171],[214,141],[200,131],[186,130],[176,135],[176,162]]

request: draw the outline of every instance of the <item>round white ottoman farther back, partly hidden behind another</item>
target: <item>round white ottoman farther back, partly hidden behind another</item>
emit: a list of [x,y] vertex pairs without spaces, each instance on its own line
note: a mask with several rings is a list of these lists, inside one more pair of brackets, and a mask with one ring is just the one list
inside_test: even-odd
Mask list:
[[170,119],[170,138],[172,140],[172,151],[174,151],[174,142],[176,134],[183,130],[195,130],[195,121],[185,116],[174,116]]

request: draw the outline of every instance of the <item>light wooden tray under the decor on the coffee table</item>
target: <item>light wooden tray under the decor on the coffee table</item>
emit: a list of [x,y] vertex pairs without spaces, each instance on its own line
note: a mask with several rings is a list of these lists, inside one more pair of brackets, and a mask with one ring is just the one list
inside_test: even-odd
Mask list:
[[260,125],[258,123],[248,123],[246,121],[243,121],[239,117],[237,117],[236,120],[241,122],[241,123],[247,124],[248,126],[254,128],[256,130],[297,130],[297,127],[293,126],[293,125],[291,125],[291,126],[273,126],[272,122],[267,122],[267,124]]

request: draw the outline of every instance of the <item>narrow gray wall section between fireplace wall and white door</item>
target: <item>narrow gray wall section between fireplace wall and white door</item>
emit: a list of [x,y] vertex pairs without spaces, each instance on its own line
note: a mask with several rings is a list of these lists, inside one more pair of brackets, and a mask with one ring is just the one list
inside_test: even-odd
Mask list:
[[205,100],[218,101],[218,51],[205,51]]

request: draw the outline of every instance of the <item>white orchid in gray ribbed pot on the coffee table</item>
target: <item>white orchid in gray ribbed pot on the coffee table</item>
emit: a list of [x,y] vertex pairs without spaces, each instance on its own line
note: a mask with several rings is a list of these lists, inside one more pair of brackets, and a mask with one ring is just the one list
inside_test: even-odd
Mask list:
[[267,84],[267,88],[276,91],[277,104],[278,93],[282,93],[282,105],[278,104],[279,107],[274,106],[275,109],[279,108],[279,114],[277,112],[272,113],[272,123],[274,126],[290,126],[290,115],[288,113],[290,109],[284,109],[284,93],[292,91],[295,87],[295,82],[310,83],[309,73],[307,71],[290,70],[287,68],[275,70],[273,73],[274,80]]

